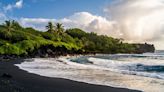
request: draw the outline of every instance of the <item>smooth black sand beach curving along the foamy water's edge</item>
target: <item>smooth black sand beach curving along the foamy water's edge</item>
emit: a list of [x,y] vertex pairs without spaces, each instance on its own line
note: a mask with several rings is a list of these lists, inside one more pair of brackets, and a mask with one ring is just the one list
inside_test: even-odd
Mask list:
[[0,92],[139,92],[30,74],[14,66],[22,61],[0,61]]

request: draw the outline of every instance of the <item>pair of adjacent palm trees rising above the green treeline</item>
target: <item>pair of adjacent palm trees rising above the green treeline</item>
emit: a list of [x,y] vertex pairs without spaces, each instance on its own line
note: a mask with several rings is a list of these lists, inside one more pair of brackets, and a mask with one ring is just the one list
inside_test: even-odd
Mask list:
[[48,30],[47,32],[49,32],[49,33],[56,32],[58,35],[60,35],[64,32],[64,26],[61,23],[56,23],[54,25],[52,22],[48,22],[46,29]]

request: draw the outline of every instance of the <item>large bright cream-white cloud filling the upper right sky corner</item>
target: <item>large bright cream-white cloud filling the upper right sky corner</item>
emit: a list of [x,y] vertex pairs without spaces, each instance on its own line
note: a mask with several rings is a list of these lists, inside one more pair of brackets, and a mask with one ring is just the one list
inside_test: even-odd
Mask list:
[[117,0],[105,8],[108,19],[117,22],[128,41],[160,39],[164,34],[164,0]]

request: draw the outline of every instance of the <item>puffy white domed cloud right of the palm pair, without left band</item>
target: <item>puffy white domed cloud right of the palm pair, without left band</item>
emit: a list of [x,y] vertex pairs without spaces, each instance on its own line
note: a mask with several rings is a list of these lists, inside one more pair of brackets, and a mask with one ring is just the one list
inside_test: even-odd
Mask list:
[[110,30],[114,29],[113,25],[115,24],[102,16],[88,12],[78,12],[60,21],[67,27],[78,27],[88,32],[97,32],[98,34],[111,34]]

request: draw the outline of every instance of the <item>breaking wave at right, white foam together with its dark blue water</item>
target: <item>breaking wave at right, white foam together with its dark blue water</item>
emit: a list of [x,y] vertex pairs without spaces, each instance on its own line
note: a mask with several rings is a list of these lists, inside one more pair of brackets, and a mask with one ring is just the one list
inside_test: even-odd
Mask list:
[[88,58],[94,65],[108,68],[111,71],[123,74],[138,75],[164,79],[164,63],[154,61],[117,61],[100,58]]

